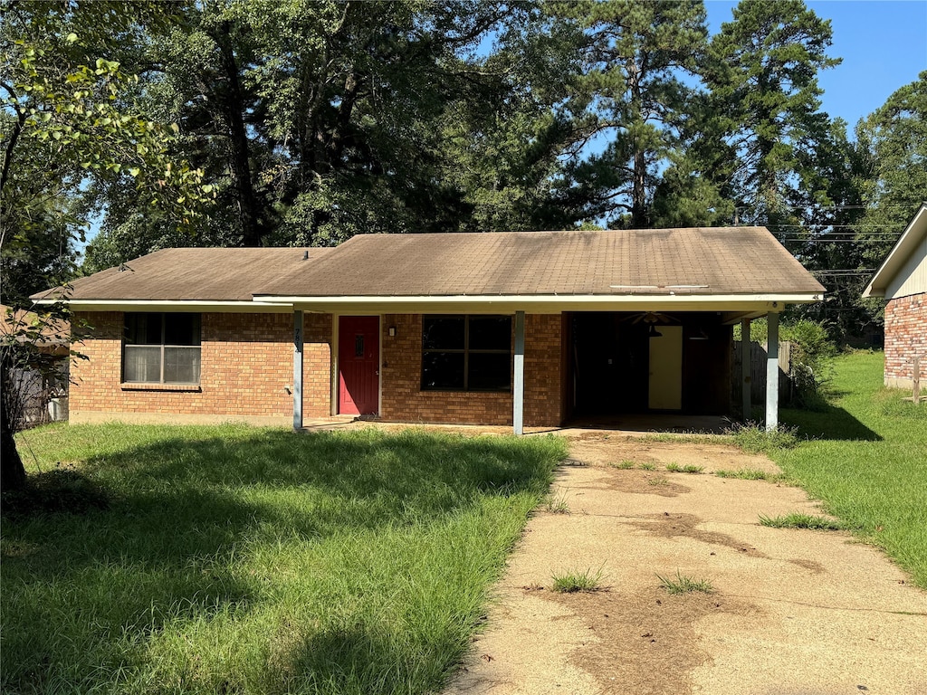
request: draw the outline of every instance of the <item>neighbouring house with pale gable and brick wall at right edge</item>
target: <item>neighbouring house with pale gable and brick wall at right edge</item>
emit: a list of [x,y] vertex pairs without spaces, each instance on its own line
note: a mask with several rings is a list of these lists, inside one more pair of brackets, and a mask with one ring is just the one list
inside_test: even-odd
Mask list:
[[885,297],[885,385],[927,388],[927,203],[898,237],[863,297]]

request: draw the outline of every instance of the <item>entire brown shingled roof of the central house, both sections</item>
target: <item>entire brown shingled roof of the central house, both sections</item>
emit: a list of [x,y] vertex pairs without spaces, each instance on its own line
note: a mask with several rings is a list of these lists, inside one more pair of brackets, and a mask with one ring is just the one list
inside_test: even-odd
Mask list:
[[250,301],[824,291],[763,227],[365,234],[337,248],[311,248],[309,260],[303,254],[299,248],[165,249],[132,260],[122,269],[75,281],[70,299]]

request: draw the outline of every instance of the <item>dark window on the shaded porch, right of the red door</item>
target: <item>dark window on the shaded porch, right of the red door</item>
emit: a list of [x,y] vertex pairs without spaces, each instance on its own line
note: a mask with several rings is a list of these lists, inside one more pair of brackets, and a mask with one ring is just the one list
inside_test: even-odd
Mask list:
[[508,391],[511,383],[511,316],[423,318],[423,390]]

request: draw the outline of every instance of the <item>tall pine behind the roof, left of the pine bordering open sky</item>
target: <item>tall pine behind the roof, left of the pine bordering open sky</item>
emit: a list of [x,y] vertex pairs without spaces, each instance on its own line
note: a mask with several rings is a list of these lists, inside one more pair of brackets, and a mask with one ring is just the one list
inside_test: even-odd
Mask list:
[[[554,3],[585,34],[583,74],[573,109],[577,154],[604,142],[601,153],[575,158],[563,202],[581,216],[611,216],[611,226],[647,227],[659,171],[679,155],[679,131],[707,46],[701,0]],[[583,209],[585,208],[585,209]]]

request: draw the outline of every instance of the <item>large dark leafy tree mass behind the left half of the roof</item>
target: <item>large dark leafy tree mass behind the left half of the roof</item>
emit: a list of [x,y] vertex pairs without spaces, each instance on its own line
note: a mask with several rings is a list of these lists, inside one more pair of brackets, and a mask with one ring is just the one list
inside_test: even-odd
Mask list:
[[[180,124],[218,191],[188,244],[517,226],[544,196],[570,57],[536,4],[174,8],[182,21],[148,34],[137,60],[141,98]],[[92,267],[177,243],[133,190],[96,193],[108,214]]]

